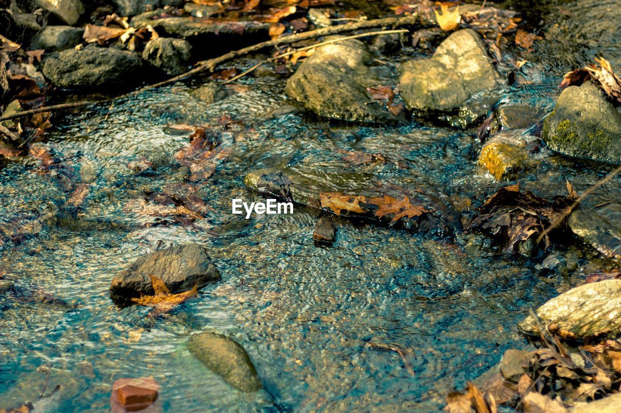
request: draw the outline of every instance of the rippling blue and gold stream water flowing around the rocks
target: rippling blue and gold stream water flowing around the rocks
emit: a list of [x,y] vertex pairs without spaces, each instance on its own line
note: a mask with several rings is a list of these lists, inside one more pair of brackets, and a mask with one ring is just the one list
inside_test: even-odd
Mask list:
[[[337,242],[319,247],[319,211],[232,215],[232,198],[262,199],[243,185],[262,167],[291,167],[344,189],[371,181],[431,188],[470,203],[466,218],[505,184],[476,166],[472,133],[414,120],[329,122],[291,109],[280,78],[239,83],[247,87],[209,106],[190,94],[192,84],[175,84],[57,115],[40,144],[52,167],[25,158],[0,170],[0,274],[16,284],[0,295],[0,406],[37,399],[51,366],[47,389],[61,385],[58,411],[109,409],[111,384],[140,376],[161,384],[165,411],[434,411],[448,391],[525,344],[515,326],[529,308],[606,265],[572,240],[546,252],[563,262],[547,272],[542,259],[504,255],[477,234],[438,239],[335,219]],[[505,102],[549,111],[558,91],[550,79],[539,83],[508,89]],[[238,122],[221,127],[225,115]],[[225,155],[211,179],[184,180],[173,154],[188,134],[167,133],[171,123],[215,125]],[[352,166],[343,150],[386,162]],[[142,156],[155,167],[128,167]],[[607,171],[551,157],[522,185],[550,197],[564,192],[566,178],[584,190]],[[89,192],[76,207],[68,198],[82,184]],[[204,219],[183,225],[148,215],[145,191],[173,185],[204,200]],[[617,179],[595,197],[620,187]],[[206,247],[220,282],[156,317],[112,303],[119,270],[185,242]],[[264,389],[241,393],[207,370],[186,349],[194,331],[240,342]]]

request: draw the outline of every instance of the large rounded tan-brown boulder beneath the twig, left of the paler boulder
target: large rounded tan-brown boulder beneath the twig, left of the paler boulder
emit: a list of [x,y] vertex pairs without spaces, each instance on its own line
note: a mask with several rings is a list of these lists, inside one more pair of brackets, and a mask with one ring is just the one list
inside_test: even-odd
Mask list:
[[346,40],[317,48],[287,81],[285,92],[317,115],[366,122],[399,118],[381,101],[373,101],[367,87],[382,82],[366,66],[371,53],[365,43]]

